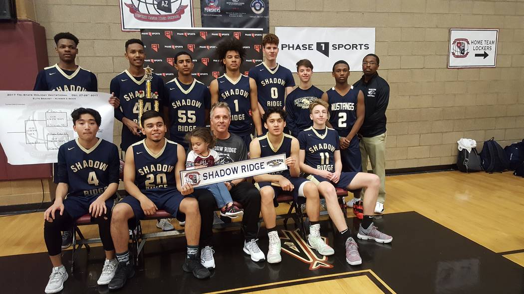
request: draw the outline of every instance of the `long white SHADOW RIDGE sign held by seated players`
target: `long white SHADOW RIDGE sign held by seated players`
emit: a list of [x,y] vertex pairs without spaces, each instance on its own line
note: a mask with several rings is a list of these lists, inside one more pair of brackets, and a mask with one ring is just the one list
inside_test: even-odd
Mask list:
[[180,172],[182,185],[188,183],[193,187],[229,182],[254,175],[286,170],[286,154],[248,159],[221,164],[209,168],[184,170]]

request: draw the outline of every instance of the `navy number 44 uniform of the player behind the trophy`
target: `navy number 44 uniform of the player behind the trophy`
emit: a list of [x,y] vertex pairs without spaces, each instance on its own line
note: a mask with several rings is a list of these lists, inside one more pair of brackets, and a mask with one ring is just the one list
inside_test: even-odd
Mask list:
[[[136,79],[127,69],[121,74],[117,75],[111,80],[110,92],[114,92],[115,96],[120,99],[120,107],[115,109],[115,117],[122,121],[124,117],[138,123],[138,97],[146,97],[146,76]],[[151,80],[151,97],[162,99],[164,93],[163,81],[157,75],[153,75]],[[144,102],[144,112],[154,110],[154,102]],[[160,112],[162,102],[159,102]],[[120,147],[123,151],[127,147],[143,139],[143,137],[135,136],[129,128],[122,126],[122,143]]]

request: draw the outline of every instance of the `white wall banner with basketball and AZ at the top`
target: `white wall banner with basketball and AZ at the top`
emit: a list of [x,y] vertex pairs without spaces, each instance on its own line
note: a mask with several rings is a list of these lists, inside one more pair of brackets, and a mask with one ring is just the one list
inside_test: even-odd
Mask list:
[[191,0],[119,0],[123,31],[193,27]]

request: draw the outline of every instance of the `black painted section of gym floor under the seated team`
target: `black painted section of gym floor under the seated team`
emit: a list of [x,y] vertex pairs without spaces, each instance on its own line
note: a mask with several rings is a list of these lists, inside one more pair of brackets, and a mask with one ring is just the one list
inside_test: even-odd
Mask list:
[[[358,220],[348,219],[355,236]],[[397,293],[523,293],[524,268],[477,243],[462,237],[415,212],[379,216],[375,220],[394,241],[379,244],[357,240],[363,264],[350,266],[345,261],[344,245],[333,238],[331,222],[323,221],[321,233],[335,249],[335,255],[322,256],[304,249],[299,235],[288,226],[279,227],[282,248],[280,264],[254,263],[242,251],[243,236],[239,230],[214,234],[216,269],[209,279],[198,280],[182,271],[185,254],[184,238],[148,241],[136,275],[118,293],[203,293],[251,287],[278,281],[295,280],[337,273],[372,269]],[[268,238],[260,230],[260,248],[267,253]],[[69,271],[71,251],[64,252]],[[320,258],[319,258],[320,257]],[[101,247],[86,254],[82,249],[75,271],[64,284],[62,293],[107,293],[107,287],[96,285],[104,253]],[[2,293],[43,293],[51,272],[46,253],[0,257]],[[386,287],[367,275],[385,293]],[[344,278],[350,275],[330,277]],[[325,278],[323,278],[325,280]],[[315,280],[298,283],[311,283]],[[296,284],[296,283],[295,283]],[[281,285],[285,286],[285,285]],[[246,291],[276,288],[266,286]],[[242,292],[242,291],[240,291]]]

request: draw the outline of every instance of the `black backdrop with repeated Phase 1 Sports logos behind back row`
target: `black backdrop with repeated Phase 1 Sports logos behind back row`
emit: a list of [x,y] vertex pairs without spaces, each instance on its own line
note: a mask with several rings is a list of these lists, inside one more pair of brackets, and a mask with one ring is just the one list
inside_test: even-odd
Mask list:
[[240,40],[246,56],[240,72],[247,75],[249,69],[262,62],[261,29],[144,29],[141,31],[146,60],[153,73],[166,83],[177,77],[174,55],[186,51],[193,57],[193,77],[209,86],[212,80],[224,74],[222,60],[216,56],[216,46],[224,39]]

